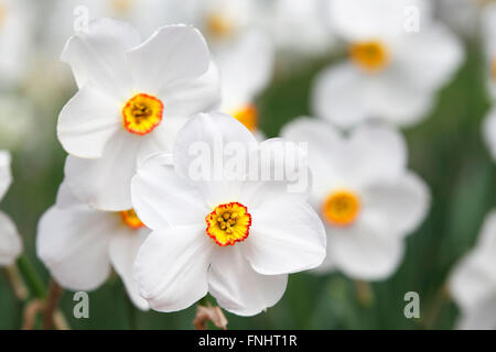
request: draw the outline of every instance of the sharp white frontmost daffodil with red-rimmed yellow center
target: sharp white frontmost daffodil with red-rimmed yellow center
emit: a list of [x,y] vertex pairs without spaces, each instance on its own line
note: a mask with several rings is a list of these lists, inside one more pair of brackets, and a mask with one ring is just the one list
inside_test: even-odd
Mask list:
[[[152,233],[134,278],[152,309],[181,310],[209,293],[228,311],[252,316],[279,301],[289,273],[322,263],[325,231],[305,191],[290,193],[284,180],[242,180],[244,173],[225,177],[246,163],[229,146],[258,155],[276,145],[259,144],[229,116],[198,114],[179,133],[173,157],[159,154],[139,167],[132,202]],[[268,157],[266,170],[281,170],[285,160]],[[218,177],[195,176],[198,163]]]

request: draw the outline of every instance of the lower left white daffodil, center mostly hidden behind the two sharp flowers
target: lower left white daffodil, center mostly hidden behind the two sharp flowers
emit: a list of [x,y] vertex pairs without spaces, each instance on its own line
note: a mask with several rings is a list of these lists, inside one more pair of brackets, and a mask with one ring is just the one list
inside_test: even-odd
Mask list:
[[132,265],[149,234],[134,210],[93,209],[62,184],[55,206],[40,220],[36,253],[55,280],[71,290],[98,288],[114,267],[133,304],[145,310],[149,307],[132,279]]

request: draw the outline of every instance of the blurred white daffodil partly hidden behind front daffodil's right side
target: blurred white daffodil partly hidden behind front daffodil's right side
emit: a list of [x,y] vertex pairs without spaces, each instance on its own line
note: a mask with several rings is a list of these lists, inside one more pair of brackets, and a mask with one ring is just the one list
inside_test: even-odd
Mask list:
[[301,118],[282,136],[309,143],[311,204],[327,231],[319,268],[359,279],[385,279],[398,267],[405,237],[423,220],[429,190],[407,170],[407,146],[390,128],[362,125],[348,138],[331,123]]

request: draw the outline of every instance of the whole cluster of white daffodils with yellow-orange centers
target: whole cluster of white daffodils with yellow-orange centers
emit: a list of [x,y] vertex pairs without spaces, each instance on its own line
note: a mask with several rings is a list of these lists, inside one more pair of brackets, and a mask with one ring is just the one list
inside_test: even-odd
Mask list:
[[[0,88],[19,84],[29,65],[32,38],[19,30],[33,22],[26,1],[0,0],[0,51],[9,52],[0,55]],[[420,28],[406,25],[406,9],[417,11]],[[473,13],[483,13],[496,97],[496,7]],[[465,57],[430,1],[66,0],[51,14],[41,61],[63,47],[77,85],[56,127],[68,153],[64,182],[36,237],[58,285],[94,290],[114,270],[142,310],[177,311],[209,294],[222,308],[254,316],[281,299],[292,273],[382,280],[398,270],[406,238],[431,204],[399,129],[429,114]],[[460,24],[456,15],[450,20]],[[292,69],[334,51],[344,55],[311,89],[315,117],[289,117],[280,132],[308,145],[308,188],[192,177],[195,143],[271,150],[278,140],[259,130],[270,117],[259,116],[256,99],[274,63]],[[69,87],[71,75],[52,73]],[[483,131],[496,158],[495,109]],[[218,157],[228,165],[230,155]],[[0,198],[10,183],[10,156],[1,152]],[[451,276],[462,328],[496,324],[495,241],[492,213]],[[21,250],[0,212],[0,265]]]

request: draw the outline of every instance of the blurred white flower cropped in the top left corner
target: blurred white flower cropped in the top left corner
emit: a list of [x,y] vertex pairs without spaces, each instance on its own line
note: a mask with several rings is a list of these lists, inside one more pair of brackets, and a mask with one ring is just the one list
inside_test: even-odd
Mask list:
[[0,88],[24,77],[32,40],[31,20],[30,3],[25,0],[0,0]]

